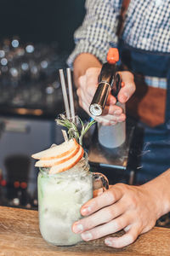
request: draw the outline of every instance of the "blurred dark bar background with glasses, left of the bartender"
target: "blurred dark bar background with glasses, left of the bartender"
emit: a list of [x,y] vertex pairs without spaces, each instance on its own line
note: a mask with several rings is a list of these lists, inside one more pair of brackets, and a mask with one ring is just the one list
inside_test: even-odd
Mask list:
[[58,69],[84,1],[2,0],[0,9],[0,204],[37,209],[31,154],[63,141],[54,121],[64,112]]

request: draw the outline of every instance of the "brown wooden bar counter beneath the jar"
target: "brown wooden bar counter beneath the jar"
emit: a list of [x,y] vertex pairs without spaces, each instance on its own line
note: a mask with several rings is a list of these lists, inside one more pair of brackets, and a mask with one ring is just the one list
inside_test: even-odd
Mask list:
[[122,249],[106,247],[103,238],[73,247],[55,247],[42,239],[37,211],[0,207],[0,255],[170,255],[170,229],[155,227]]

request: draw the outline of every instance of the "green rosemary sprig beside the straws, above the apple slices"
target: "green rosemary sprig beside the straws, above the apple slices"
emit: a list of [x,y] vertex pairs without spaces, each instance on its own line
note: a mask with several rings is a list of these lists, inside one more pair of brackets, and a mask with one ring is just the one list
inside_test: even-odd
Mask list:
[[[73,122],[71,119],[67,119],[65,114],[60,114],[58,119],[55,119],[57,125],[64,126],[67,128],[67,133],[69,139],[75,138],[77,143],[82,145],[82,138],[88,131],[88,129],[95,124],[95,120],[88,122],[86,125],[83,124],[82,119],[77,118],[76,122]],[[81,127],[79,127],[81,126]]]

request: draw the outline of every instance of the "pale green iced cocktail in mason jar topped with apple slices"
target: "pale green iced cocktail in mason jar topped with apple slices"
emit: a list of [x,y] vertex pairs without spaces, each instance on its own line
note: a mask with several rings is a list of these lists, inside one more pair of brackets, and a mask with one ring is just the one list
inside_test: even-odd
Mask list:
[[[93,197],[94,174],[75,139],[34,154],[39,159],[38,212],[42,237],[58,246],[82,241],[71,226],[82,218],[82,205]],[[100,174],[95,178],[100,179]],[[105,177],[102,176],[105,179]]]

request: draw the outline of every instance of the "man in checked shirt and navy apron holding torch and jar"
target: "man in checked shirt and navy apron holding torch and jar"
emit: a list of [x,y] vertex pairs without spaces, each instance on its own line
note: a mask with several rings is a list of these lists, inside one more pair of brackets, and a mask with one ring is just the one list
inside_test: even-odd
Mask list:
[[[74,224],[73,231],[89,241],[124,229],[125,235],[105,240],[111,247],[132,243],[170,211],[170,1],[131,0],[117,38],[121,7],[119,0],[86,2],[87,14],[68,61],[74,67],[80,105],[88,112],[101,63],[110,47],[119,48],[126,71],[121,73],[125,86],[118,100],[127,102],[127,115],[138,119],[144,130],[138,182],[156,177],[138,187],[116,184],[82,207],[86,218]],[[109,96],[105,113],[96,120],[103,125],[122,122],[126,116],[115,103]]]

